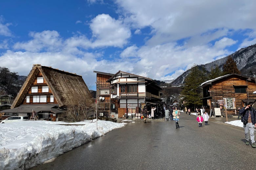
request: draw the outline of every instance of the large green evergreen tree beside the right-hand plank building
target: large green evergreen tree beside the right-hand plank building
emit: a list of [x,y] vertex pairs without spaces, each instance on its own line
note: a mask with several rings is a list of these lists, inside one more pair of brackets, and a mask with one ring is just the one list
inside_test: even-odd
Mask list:
[[193,65],[190,70],[191,72],[184,80],[184,86],[181,91],[181,101],[184,101],[185,106],[201,106],[203,105],[203,101],[201,100],[203,93],[202,88],[199,86],[207,81],[206,70],[197,65]]

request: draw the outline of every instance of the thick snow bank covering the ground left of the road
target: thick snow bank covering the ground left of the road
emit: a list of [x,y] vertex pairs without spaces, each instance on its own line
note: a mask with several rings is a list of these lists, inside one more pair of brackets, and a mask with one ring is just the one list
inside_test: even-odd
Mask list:
[[42,164],[125,124],[101,120],[97,125],[96,120],[0,124],[0,170],[27,169]]

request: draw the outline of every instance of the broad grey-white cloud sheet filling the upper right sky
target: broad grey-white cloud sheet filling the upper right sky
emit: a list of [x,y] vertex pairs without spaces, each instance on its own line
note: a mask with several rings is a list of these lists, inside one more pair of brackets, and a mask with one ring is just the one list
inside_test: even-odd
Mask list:
[[[158,38],[177,40],[219,28],[256,29],[256,2],[170,0],[117,0],[127,23],[134,28],[150,26]],[[143,8],[141,8],[143,6]],[[216,12],[218,11],[218,12]],[[239,24],[238,24],[239,23]],[[154,38],[154,37],[153,37]]]

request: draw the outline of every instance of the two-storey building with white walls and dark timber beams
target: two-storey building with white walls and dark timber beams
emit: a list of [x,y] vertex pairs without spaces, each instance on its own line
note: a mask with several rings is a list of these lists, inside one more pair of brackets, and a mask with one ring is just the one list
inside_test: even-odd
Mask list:
[[[151,105],[160,106],[162,88],[148,77],[119,70],[107,83],[110,83],[111,112],[118,113],[118,118],[126,114],[136,117],[144,105],[148,110],[151,110]],[[137,117],[140,116],[137,114]]]

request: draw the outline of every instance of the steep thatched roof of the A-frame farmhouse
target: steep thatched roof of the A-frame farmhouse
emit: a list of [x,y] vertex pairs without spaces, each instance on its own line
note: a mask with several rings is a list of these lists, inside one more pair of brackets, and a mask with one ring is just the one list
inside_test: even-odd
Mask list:
[[28,94],[28,90],[39,72],[42,73],[47,85],[52,90],[59,107],[92,99],[91,93],[82,76],[36,64],[33,66],[26,81],[22,85],[11,108],[18,107],[22,104],[22,101],[25,99],[26,94]]

